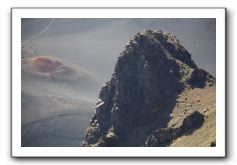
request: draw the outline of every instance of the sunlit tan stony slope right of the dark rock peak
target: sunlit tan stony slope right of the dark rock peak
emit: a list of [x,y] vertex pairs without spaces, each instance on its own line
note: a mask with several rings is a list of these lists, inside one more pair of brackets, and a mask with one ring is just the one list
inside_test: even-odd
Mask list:
[[207,84],[204,88],[186,89],[177,98],[177,104],[168,124],[177,128],[184,118],[194,111],[204,115],[201,128],[190,135],[184,135],[172,142],[171,147],[209,147],[216,139],[216,85]]

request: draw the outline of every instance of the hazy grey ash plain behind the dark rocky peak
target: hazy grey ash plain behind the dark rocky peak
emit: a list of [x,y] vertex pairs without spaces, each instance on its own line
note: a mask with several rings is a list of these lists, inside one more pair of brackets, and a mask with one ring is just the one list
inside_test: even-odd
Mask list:
[[[80,146],[117,57],[145,29],[176,35],[195,63],[215,76],[215,19],[22,19],[22,146]],[[39,72],[29,62],[38,57],[63,67]],[[57,79],[47,76],[52,71]]]

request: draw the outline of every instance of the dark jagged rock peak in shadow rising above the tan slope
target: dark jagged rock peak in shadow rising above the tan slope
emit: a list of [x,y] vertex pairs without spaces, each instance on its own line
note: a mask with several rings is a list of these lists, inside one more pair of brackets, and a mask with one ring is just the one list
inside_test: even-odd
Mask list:
[[179,127],[169,127],[177,97],[208,82],[215,85],[215,78],[196,66],[175,36],[155,30],[137,33],[99,93],[82,145],[168,146],[204,122],[203,114],[192,109]]

